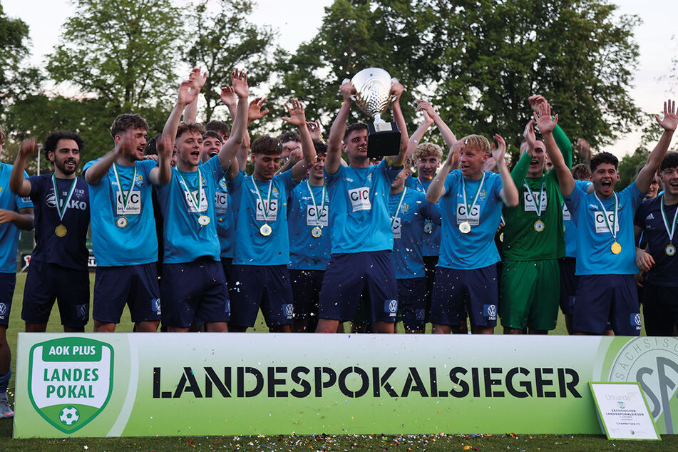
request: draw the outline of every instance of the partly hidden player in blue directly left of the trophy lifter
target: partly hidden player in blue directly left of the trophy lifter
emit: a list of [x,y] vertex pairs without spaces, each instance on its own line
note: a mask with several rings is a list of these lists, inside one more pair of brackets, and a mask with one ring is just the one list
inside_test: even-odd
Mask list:
[[[289,279],[294,299],[292,332],[307,332],[309,321],[317,320],[318,300],[325,274],[331,230],[329,229],[329,195],[323,178],[327,145],[313,142],[316,161],[303,180],[289,194]],[[317,323],[317,322],[314,322]]]

